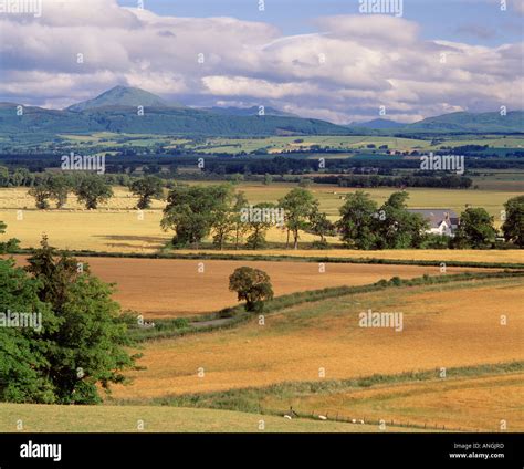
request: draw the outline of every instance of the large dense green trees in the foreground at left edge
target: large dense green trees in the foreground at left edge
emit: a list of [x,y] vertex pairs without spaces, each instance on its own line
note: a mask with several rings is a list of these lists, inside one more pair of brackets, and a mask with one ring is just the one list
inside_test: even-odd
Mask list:
[[25,269],[0,260],[0,312],[41,314],[39,327],[0,327],[0,402],[97,404],[135,367],[113,289],[44,238]]

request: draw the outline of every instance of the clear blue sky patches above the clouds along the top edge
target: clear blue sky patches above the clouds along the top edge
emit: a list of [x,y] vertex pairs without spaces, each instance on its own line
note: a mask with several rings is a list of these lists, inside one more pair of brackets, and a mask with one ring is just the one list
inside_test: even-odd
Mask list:
[[[144,0],[145,8],[176,17],[234,17],[264,21],[284,34],[315,31],[314,20],[322,15],[356,14],[358,0]],[[137,0],[119,0],[136,7]],[[522,40],[524,19],[501,11],[499,0],[404,0],[404,18],[418,22],[425,39],[465,41],[470,44],[499,45]]]

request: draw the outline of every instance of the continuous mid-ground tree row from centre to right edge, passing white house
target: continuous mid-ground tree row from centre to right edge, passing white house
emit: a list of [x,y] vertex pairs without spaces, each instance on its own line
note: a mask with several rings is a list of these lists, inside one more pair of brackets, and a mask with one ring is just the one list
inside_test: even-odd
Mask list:
[[[319,211],[318,200],[305,188],[294,188],[277,204],[262,202],[250,206],[243,192],[230,185],[175,187],[168,195],[161,227],[174,230],[172,246],[199,248],[212,234],[213,243],[223,249],[233,243],[238,249],[248,234],[244,247],[262,249],[266,246],[268,230],[275,225],[263,217],[242,219],[242,210],[283,211],[279,226],[286,232],[286,248],[298,248],[302,232],[318,236],[315,248],[327,248],[326,238],[339,236],[350,249],[488,249],[495,246],[497,230],[494,218],[483,208],[467,208],[453,237],[429,233],[428,221],[408,209],[409,194],[397,191],[378,206],[361,190],[346,196],[339,209],[340,219],[331,221]],[[524,247],[524,196],[510,199],[505,205],[502,226],[504,239]]]

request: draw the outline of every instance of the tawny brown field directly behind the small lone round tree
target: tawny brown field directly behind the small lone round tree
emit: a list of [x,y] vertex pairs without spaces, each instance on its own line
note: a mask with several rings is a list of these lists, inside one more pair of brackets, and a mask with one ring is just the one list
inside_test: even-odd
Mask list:
[[[15,257],[20,264],[23,257]],[[147,317],[209,313],[237,304],[229,291],[234,269],[251,265],[268,272],[275,295],[328,286],[365,285],[391,277],[438,275],[438,267],[324,264],[310,262],[198,261],[175,259],[80,258],[92,272],[116,283],[114,299],[124,310]],[[471,269],[448,269],[448,273]],[[322,272],[321,272],[322,271]]]

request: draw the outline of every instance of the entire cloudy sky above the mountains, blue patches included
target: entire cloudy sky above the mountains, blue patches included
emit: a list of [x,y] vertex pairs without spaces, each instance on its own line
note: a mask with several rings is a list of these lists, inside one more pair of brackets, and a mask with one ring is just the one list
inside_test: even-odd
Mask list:
[[127,85],[338,124],[524,108],[524,0],[41,1],[0,0],[0,102]]

